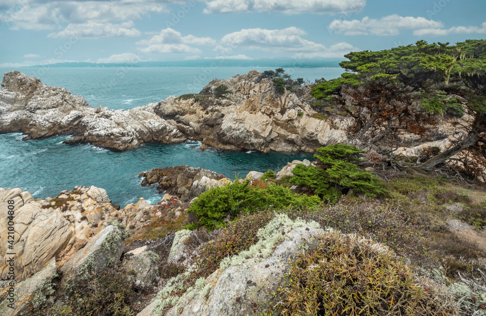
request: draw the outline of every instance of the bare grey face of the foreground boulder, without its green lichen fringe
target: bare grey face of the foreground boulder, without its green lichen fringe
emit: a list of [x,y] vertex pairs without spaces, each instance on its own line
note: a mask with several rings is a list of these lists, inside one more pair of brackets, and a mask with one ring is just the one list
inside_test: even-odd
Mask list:
[[[289,221],[288,218],[286,221]],[[290,226],[283,228],[286,230],[285,240],[278,244],[268,257],[261,258],[261,255],[257,254],[255,257],[239,261],[239,264],[228,263],[228,267],[217,269],[204,281],[206,291],[196,287],[186,292],[166,315],[243,316],[253,314],[254,303],[257,306],[268,306],[267,290],[276,289],[283,284],[282,277],[288,271],[290,262],[295,260],[301,251],[304,238],[311,241],[312,238],[324,233],[323,229],[317,228],[317,223],[290,222]],[[279,227],[276,228],[278,234],[282,230],[281,226]],[[146,314],[142,315],[155,315],[154,312],[148,314],[150,310],[156,311],[157,303],[155,306],[147,307],[144,312]]]

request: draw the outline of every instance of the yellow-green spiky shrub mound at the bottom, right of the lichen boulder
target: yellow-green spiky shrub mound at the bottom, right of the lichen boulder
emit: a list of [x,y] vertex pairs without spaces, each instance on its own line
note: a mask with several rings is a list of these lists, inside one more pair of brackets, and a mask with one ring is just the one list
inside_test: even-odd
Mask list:
[[302,252],[280,289],[286,315],[452,315],[385,246],[331,231]]

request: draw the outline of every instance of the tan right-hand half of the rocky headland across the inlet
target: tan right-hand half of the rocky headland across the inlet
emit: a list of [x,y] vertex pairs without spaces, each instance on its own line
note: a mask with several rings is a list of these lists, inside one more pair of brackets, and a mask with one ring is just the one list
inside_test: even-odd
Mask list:
[[[211,81],[196,97],[169,97],[154,106],[162,118],[173,119],[177,128],[193,140],[221,149],[261,152],[312,152],[346,139],[346,120],[332,122],[312,117],[311,106],[294,93],[277,93],[270,79],[250,71],[227,80]],[[227,99],[209,95],[225,85]]]

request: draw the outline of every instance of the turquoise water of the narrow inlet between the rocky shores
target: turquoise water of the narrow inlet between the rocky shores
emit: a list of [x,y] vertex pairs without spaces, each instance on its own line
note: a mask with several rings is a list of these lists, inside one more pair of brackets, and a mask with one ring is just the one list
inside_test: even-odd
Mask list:
[[142,171],[187,164],[223,174],[244,177],[257,170],[279,170],[294,159],[312,159],[308,154],[261,154],[208,149],[200,142],[145,144],[124,152],[91,145],[67,145],[67,137],[22,141],[19,133],[0,135],[0,187],[18,187],[35,198],[54,197],[76,185],[104,188],[115,204],[122,206],[144,197],[160,201],[156,185],[142,187]]

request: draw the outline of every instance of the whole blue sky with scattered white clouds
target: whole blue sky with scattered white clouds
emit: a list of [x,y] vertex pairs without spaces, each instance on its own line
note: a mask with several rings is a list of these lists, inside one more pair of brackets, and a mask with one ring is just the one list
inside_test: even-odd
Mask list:
[[0,66],[330,58],[486,38],[485,0],[0,0]]

